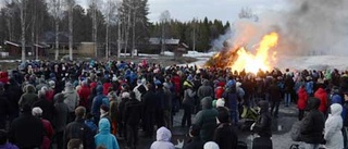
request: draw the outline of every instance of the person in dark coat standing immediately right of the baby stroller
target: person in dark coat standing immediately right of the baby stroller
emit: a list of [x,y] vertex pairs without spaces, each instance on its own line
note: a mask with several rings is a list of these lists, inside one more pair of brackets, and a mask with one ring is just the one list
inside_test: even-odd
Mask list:
[[260,107],[260,115],[253,126],[253,129],[260,137],[268,137],[272,136],[272,117],[269,112],[269,102],[268,101],[260,101],[258,103]]

